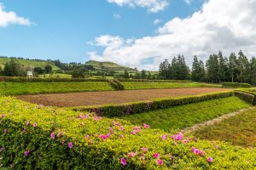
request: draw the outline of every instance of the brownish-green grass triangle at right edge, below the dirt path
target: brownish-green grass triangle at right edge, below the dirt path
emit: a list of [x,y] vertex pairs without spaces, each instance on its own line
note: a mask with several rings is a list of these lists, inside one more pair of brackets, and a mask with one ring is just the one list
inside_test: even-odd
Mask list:
[[202,139],[224,140],[242,146],[256,147],[256,108],[204,127],[196,131],[195,135]]

